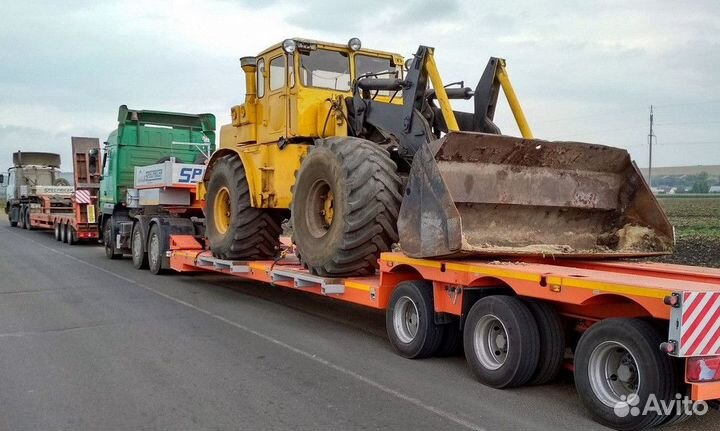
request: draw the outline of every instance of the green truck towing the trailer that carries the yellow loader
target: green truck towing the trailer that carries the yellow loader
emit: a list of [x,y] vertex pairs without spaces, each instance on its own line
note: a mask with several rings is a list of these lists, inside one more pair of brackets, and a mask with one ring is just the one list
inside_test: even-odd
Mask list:
[[200,234],[195,184],[215,150],[215,116],[120,106],[105,142],[99,223],[110,259],[132,255],[138,269],[169,267],[170,234]]

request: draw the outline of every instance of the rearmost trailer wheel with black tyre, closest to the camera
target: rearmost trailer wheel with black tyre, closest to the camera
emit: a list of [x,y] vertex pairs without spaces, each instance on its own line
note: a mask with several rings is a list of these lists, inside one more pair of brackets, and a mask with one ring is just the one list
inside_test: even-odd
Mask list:
[[639,319],[606,319],[580,337],[575,386],[597,422],[639,430],[666,420],[656,409],[643,411],[651,397],[660,406],[669,405],[678,391],[675,367],[660,351],[661,342],[655,328]]

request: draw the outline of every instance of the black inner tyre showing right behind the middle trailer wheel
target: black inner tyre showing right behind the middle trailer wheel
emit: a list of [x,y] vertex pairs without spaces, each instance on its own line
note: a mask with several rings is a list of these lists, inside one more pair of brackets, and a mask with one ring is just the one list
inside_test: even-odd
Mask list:
[[524,301],[540,335],[540,358],[529,385],[544,385],[558,376],[565,360],[565,328],[560,315],[546,302]]

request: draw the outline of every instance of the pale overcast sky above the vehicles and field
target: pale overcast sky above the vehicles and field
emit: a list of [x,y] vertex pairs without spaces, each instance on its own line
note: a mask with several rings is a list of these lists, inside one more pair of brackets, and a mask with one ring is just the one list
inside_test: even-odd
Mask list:
[[[62,6],[59,6],[62,3]],[[409,56],[434,46],[445,82],[474,87],[490,56],[536,137],[627,148],[647,166],[720,164],[720,1],[8,1],[0,14],[0,169],[11,153],[104,140],[117,108],[241,103],[238,58],[287,37]],[[496,121],[518,135],[506,105]]]

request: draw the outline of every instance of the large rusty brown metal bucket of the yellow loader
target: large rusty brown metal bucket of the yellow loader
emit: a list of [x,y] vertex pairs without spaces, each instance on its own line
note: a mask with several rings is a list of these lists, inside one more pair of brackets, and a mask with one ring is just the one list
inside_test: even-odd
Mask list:
[[415,258],[641,257],[674,243],[627,151],[472,132],[418,150],[398,230]]

